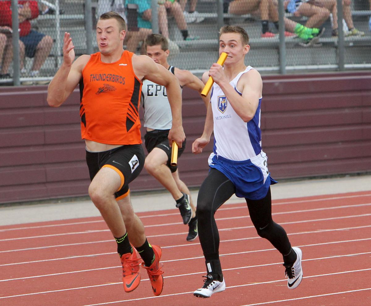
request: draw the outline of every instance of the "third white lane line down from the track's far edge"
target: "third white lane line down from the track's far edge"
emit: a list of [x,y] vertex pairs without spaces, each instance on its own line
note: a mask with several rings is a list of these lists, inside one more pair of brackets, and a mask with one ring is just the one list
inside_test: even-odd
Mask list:
[[[329,221],[329,220],[338,220],[338,219],[347,219],[347,218],[359,218],[359,217],[368,217],[368,216],[371,216],[371,214],[351,215],[351,216],[322,218],[322,219],[309,219],[309,220],[302,220],[302,221],[290,221],[290,222],[283,222],[283,223],[281,222],[280,224],[282,224],[282,225],[298,224],[298,223],[305,223],[305,222],[319,222],[319,221]],[[246,228],[254,228],[254,226],[250,225],[250,226],[242,226],[242,227],[219,228],[219,232],[221,232],[221,231],[232,231],[232,230],[242,230],[242,229],[246,229]],[[153,238],[153,237],[166,237],[166,236],[185,235],[185,234],[188,234],[188,232],[178,232],[178,233],[160,234],[160,235],[148,235],[146,237],[147,238]],[[43,247],[23,248],[23,249],[15,249],[15,250],[6,250],[6,251],[0,251],[0,253],[30,251],[30,250],[39,250],[39,249],[46,249],[46,248],[66,247],[66,246],[72,246],[72,245],[93,244],[93,243],[103,243],[103,242],[112,242],[112,239],[110,239],[110,240],[99,240],[99,241],[88,241],[88,242],[78,242],[78,243],[68,243],[68,244],[46,245],[46,246],[43,246]]]

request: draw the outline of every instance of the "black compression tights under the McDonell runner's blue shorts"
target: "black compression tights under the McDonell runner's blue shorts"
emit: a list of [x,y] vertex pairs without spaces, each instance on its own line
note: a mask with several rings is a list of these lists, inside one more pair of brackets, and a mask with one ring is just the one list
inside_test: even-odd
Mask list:
[[[198,235],[206,260],[219,259],[219,232],[214,219],[216,210],[236,189],[219,170],[211,168],[200,187],[197,199]],[[285,230],[272,220],[270,188],[265,198],[246,199],[251,221],[260,237],[266,238],[282,254],[290,253],[291,245]]]

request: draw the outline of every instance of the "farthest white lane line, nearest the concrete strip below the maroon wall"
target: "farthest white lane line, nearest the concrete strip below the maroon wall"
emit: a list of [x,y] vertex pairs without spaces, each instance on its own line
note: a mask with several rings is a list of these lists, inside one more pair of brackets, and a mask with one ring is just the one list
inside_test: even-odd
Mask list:
[[[307,203],[307,202],[322,202],[322,201],[329,201],[329,200],[336,200],[336,199],[351,199],[351,198],[359,198],[359,197],[364,197],[364,196],[371,196],[371,193],[364,194],[364,195],[334,196],[334,197],[331,197],[331,198],[286,201],[286,202],[273,201],[272,206],[274,206],[274,205],[285,205],[285,204],[296,204],[296,203]],[[231,209],[241,209],[241,208],[245,208],[245,207],[246,207],[246,204],[242,203],[241,206],[237,206],[237,207],[230,207],[229,208],[229,207],[224,206],[224,207],[219,208],[218,211],[231,210]],[[179,213],[176,212],[176,213],[168,213],[168,214],[143,215],[140,218],[167,217],[167,216],[175,216],[175,215],[179,215]],[[33,229],[33,228],[45,228],[45,227],[58,227],[58,226],[78,225],[78,224],[89,224],[89,223],[97,223],[97,222],[104,222],[104,220],[70,222],[70,223],[61,223],[61,224],[48,224],[48,225],[38,225],[38,226],[30,226],[30,227],[4,228],[4,229],[0,229],[0,232],[16,231],[16,230],[30,230],[30,229]]]

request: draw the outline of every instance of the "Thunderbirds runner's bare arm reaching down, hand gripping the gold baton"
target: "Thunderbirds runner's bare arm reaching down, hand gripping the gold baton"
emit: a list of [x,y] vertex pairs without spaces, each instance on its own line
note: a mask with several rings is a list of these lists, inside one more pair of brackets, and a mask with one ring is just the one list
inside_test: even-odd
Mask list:
[[168,138],[170,144],[174,140],[181,148],[185,135],[182,126],[182,97],[178,79],[166,68],[156,64],[147,55],[133,55],[132,63],[134,73],[139,79],[148,79],[166,87],[171,115],[173,116]]

